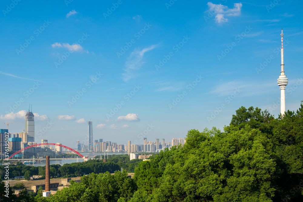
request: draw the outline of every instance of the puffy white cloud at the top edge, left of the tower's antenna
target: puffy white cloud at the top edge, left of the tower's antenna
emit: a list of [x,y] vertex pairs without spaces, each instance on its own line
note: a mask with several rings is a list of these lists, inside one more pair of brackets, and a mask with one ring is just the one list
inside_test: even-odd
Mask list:
[[228,6],[222,4],[207,3],[208,11],[216,14],[215,19],[218,24],[228,22],[225,16],[238,16],[241,14],[242,3],[235,3],[233,9],[229,9]]

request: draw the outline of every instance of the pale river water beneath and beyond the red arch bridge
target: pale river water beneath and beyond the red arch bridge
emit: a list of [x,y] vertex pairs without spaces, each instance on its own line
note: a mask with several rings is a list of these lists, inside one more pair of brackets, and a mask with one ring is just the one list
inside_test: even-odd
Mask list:
[[[85,152],[81,152],[81,154],[83,156],[88,156],[91,158],[94,158],[94,156],[99,156],[100,154],[102,155],[102,159],[104,159],[104,153],[85,153]],[[108,155],[113,155],[113,154],[127,154],[127,153],[108,153]],[[107,159],[107,153],[105,152],[105,159]],[[63,166],[65,163],[76,163],[76,162],[83,162],[82,159],[68,159],[68,160],[64,160],[64,159],[58,159],[58,160],[49,160],[49,165],[53,165],[53,164],[59,164],[61,166]],[[34,164],[26,164],[28,166],[45,166],[45,160],[44,161],[40,161],[40,162],[36,162]]]

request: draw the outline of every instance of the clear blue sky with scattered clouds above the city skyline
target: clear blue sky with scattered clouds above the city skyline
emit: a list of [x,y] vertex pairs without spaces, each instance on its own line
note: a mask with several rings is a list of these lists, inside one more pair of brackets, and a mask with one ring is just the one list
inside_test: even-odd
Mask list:
[[302,100],[301,1],[16,2],[0,2],[0,119],[22,132],[32,104],[38,143],[85,143],[89,120],[94,139],[142,144],[241,106],[277,117],[281,28],[286,109]]

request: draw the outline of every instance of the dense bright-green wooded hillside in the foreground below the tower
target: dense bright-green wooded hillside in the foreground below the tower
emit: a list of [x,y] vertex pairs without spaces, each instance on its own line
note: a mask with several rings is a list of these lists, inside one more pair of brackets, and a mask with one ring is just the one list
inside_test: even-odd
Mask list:
[[126,171],[91,173],[52,197],[23,201],[303,201],[302,140],[302,101],[277,118],[242,106],[223,131],[191,129],[184,146],[138,162],[132,179]]

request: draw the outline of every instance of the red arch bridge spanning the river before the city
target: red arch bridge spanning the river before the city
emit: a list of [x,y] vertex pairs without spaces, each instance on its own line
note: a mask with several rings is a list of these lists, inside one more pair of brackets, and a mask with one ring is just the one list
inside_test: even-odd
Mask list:
[[[62,152],[54,152],[49,146],[57,146],[63,147],[68,149],[70,152],[62,153]],[[60,149],[61,150],[61,149]],[[64,145],[55,144],[55,143],[41,143],[36,145],[31,145],[25,147],[24,149],[20,149],[19,151],[13,153],[11,156],[8,157],[10,160],[43,160],[45,156],[50,156],[50,160],[53,159],[84,159],[86,160],[87,157],[83,156],[79,152],[75,151],[72,148],[69,148]],[[81,157],[81,158],[80,158]]]

